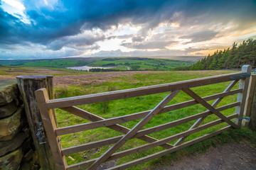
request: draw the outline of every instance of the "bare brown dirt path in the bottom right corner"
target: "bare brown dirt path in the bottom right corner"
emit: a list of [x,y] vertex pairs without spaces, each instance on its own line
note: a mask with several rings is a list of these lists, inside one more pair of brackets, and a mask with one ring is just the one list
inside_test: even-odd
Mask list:
[[247,142],[243,144],[232,142],[215,148],[211,147],[203,155],[196,154],[160,169],[256,169],[256,148]]

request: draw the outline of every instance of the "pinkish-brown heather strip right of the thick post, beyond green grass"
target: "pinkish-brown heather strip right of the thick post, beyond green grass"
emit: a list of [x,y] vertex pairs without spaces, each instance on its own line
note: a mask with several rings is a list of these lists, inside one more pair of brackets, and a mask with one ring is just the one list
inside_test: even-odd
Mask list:
[[63,75],[53,77],[55,86],[58,85],[87,85],[102,84],[105,81],[113,81],[117,77],[126,77],[132,74],[151,74],[156,72],[104,72],[95,74]]

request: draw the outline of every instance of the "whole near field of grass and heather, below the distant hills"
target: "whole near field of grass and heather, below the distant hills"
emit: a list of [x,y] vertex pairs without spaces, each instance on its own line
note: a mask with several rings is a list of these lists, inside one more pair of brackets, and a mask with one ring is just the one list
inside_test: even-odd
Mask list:
[[[170,83],[174,81],[182,81],[186,79],[196,79],[200,77],[209,77],[218,74],[227,74],[234,71],[184,71],[184,72],[102,72],[102,73],[91,73],[91,72],[79,72],[70,69],[56,69],[50,67],[0,67],[0,79],[15,79],[17,75],[21,74],[52,74],[54,80],[54,90],[55,90],[55,98],[65,98],[70,96],[79,96],[85,94],[96,94],[105,91],[115,91],[120,89],[131,89],[141,86],[151,86],[155,84],[164,84]],[[222,92],[226,86],[228,86],[229,82],[221,83],[221,84],[213,84],[209,86],[197,87],[193,88],[199,96],[208,96],[210,94],[216,94]],[[238,85],[234,87],[238,88]],[[95,115],[100,115],[102,118],[114,118],[121,115],[128,115],[131,113],[137,113],[140,111],[148,111],[154,106],[156,106],[159,101],[161,101],[168,93],[162,94],[154,94],[149,96],[140,96],[135,98],[127,98],[117,101],[109,101],[104,103],[95,103],[88,104],[84,106],[79,106],[86,111],[90,111]],[[172,100],[169,104],[180,103],[182,101],[191,100],[189,96],[180,92],[174,100]],[[223,106],[227,103],[233,103],[236,101],[236,96],[225,97],[219,106]],[[213,103],[210,101],[209,103]],[[188,115],[193,115],[196,113],[200,113],[206,111],[206,108],[202,106],[190,106],[188,108],[183,108],[177,111],[171,111],[169,113],[162,113],[161,115],[156,115],[144,128],[154,127],[156,125],[168,123],[173,120],[177,120],[180,118],[185,118]],[[87,120],[83,120],[82,118],[78,118],[75,115],[71,115],[70,113],[66,113],[65,111],[57,110],[57,119],[59,127],[64,127],[67,125],[76,125],[80,123],[87,123]],[[222,111],[221,113],[225,115],[230,115],[234,113],[234,108],[228,109],[227,111]],[[212,120],[218,119],[214,115],[208,116],[204,123],[208,123]],[[129,123],[122,123],[127,128],[132,128],[139,120],[134,120]],[[183,125],[179,125],[174,128],[170,128],[167,130],[163,130],[161,132],[152,133],[151,137],[156,137],[157,139],[162,139],[169,135],[174,135],[178,132],[182,132],[184,130],[188,130],[191,125],[193,125],[195,121],[191,121],[189,123],[185,123]],[[225,125],[222,123],[213,128],[208,128],[207,130],[203,130],[201,132],[195,133],[188,137],[187,140],[192,140],[201,135],[205,135],[209,132],[213,132],[214,130],[221,128]],[[143,129],[144,129],[143,128]],[[98,128],[95,130],[87,130],[85,132],[76,132],[70,135],[62,135],[61,141],[63,147],[71,147],[74,145],[81,145],[86,142],[92,142],[97,140],[102,140],[107,137],[114,137],[117,135],[122,135],[119,132],[115,132],[114,130],[110,130],[107,128]],[[248,128],[242,128],[240,130],[230,130],[228,132],[224,132],[221,135],[210,138],[209,140],[205,140],[201,143],[193,145],[191,147],[187,147],[173,154],[168,154],[159,159],[155,159],[151,162],[146,162],[145,164],[141,164],[139,166],[133,167],[132,169],[151,169],[156,166],[163,166],[171,164],[172,161],[177,161],[181,159],[181,157],[186,157],[188,154],[192,154],[193,152],[204,152],[210,146],[215,146],[218,144],[223,144],[225,142],[236,141],[240,142],[242,139],[250,140],[253,145],[256,146],[256,133]],[[175,141],[170,142],[174,144]],[[146,142],[142,140],[129,140],[126,145],[124,145],[119,151],[124,149],[129,149],[133,147],[137,147],[139,145],[144,145]],[[76,154],[70,154],[68,156],[73,157],[74,161],[66,157],[68,164],[75,164],[78,162],[83,162],[88,159],[93,159],[96,157],[100,157],[110,146],[100,147],[89,149],[85,152],[78,152]],[[161,151],[161,147],[156,147],[154,149],[149,149],[139,154],[133,154],[128,157],[123,157],[117,160],[117,164],[123,164],[124,162],[129,162],[134,159],[138,159],[140,157],[144,157],[148,154],[153,154],[155,152]]]

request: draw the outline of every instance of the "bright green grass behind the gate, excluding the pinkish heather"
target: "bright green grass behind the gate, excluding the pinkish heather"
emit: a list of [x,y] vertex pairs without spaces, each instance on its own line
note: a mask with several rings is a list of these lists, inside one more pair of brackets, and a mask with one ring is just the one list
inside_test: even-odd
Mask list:
[[[169,83],[174,81],[182,81],[186,79],[196,79],[199,77],[208,77],[208,76],[213,76],[217,74],[227,74],[230,72],[231,71],[148,72],[146,74],[142,74],[142,73],[129,74],[129,75],[122,75],[120,77],[114,77],[110,81],[95,81],[94,84],[81,83],[77,85],[70,84],[68,86],[63,86],[63,85],[55,86],[55,97],[64,98],[68,96],[95,94],[95,93],[100,93],[105,91],[115,91],[115,90],[130,89],[130,88],[135,88],[140,86],[150,86],[154,84],[164,84],[164,83]],[[97,77],[97,79],[102,79],[103,77],[104,77],[104,74],[102,74],[102,77]],[[90,79],[95,79],[95,78],[91,77]],[[197,88],[193,88],[193,91],[195,91],[199,96],[209,96],[211,94],[221,93],[225,89],[225,87],[228,86],[229,83],[230,82],[225,82],[221,84],[213,84],[213,85],[208,85],[203,87],[197,87]],[[234,89],[235,88],[238,88],[238,86],[235,86]],[[127,98],[127,99],[122,99],[117,101],[88,104],[88,105],[79,106],[79,107],[82,109],[85,109],[86,111],[94,113],[95,115],[100,115],[103,118],[114,118],[121,115],[128,115],[131,113],[150,110],[154,108],[154,106],[156,106],[167,94],[168,93],[154,94],[149,96],[140,96],[140,97]],[[180,92],[169,104],[180,103],[188,100],[191,100],[191,98],[186,94],[184,94],[183,92]],[[223,101],[220,102],[218,107],[228,103],[233,103],[235,101],[236,101],[235,95],[225,97]],[[213,101],[210,101],[209,103],[213,103]],[[161,115],[156,115],[156,117],[153,118],[147,125],[145,125],[144,128],[150,128],[156,125],[168,123],[170,121],[177,120],[180,118],[185,118],[188,115],[201,113],[203,111],[206,111],[206,108],[203,108],[203,106],[196,105],[196,106],[190,106],[188,108],[182,108],[177,111],[171,111],[169,113],[162,113]],[[230,108],[226,111],[222,111],[221,113],[223,113],[224,115],[231,115],[234,113],[234,111],[235,111],[235,108]],[[88,122],[87,120],[82,120],[82,118],[79,118],[75,115],[71,115],[70,113],[66,113],[65,111],[61,111],[59,109],[57,110],[57,118],[58,118],[58,125],[60,127]],[[206,120],[203,121],[203,124],[208,123],[212,120],[217,120],[217,119],[218,119],[217,116],[210,115],[208,116],[208,118],[206,118]],[[134,120],[128,123],[122,123],[121,125],[127,128],[132,128],[138,122],[139,120]],[[149,136],[155,137],[157,139],[162,139],[164,137],[174,135],[178,132],[183,132],[184,130],[188,130],[188,128],[190,128],[194,122],[195,121],[191,121],[183,125],[178,125],[174,128],[162,130],[161,132],[154,132]],[[208,128],[201,132],[197,132],[189,136],[187,140],[192,140],[201,135],[206,135],[209,132],[213,132],[214,130],[224,127],[225,125],[227,124],[222,123],[220,125],[216,125],[213,128]],[[223,133],[223,135],[219,135],[218,137],[220,137],[220,139],[224,137],[222,139],[224,142],[226,140],[230,141],[230,140],[233,140],[231,137],[233,133],[235,132],[226,132],[226,133]],[[61,137],[62,137],[63,147],[71,147],[74,145],[81,145],[86,142],[103,140],[105,138],[114,137],[117,135],[122,135],[122,134],[119,132],[115,132],[114,130],[110,130],[108,128],[98,128],[95,130],[87,130],[85,132],[75,132],[73,134],[63,135]],[[206,140],[206,143],[204,145],[212,145],[212,144],[214,145],[215,142],[213,142],[213,140],[214,139],[219,140],[218,137],[215,137],[212,140]],[[170,142],[170,144],[174,144],[174,142],[176,141]],[[219,142],[221,143],[221,141]],[[129,140],[121,149],[118,150],[118,152],[124,149],[130,149],[132,147],[137,147],[139,145],[144,145],[144,144],[146,144],[146,142],[142,140],[137,140],[137,139]],[[86,161],[87,159],[100,157],[100,155],[103,154],[105,151],[107,151],[107,149],[109,149],[111,146],[112,145],[89,149],[85,152],[79,152],[76,154],[70,154],[68,156],[73,157],[75,161],[72,161],[67,157],[68,164],[75,164],[78,162]],[[199,150],[198,148],[201,148],[200,145],[197,145],[197,146],[198,147],[196,147],[196,149],[193,149],[193,151],[198,151]],[[183,149],[183,152],[186,152],[186,154],[189,154],[189,152],[191,152],[189,151],[191,148],[193,147]],[[144,152],[141,152],[139,154],[133,154],[132,156],[123,157],[118,159],[117,164],[123,164],[124,162],[132,161],[134,159],[138,159],[140,157],[144,157],[148,154],[153,154],[161,150],[162,150],[161,147],[156,147],[154,149],[149,149]],[[182,153],[182,151],[180,152]],[[165,156],[164,158],[156,159],[151,162],[147,162],[146,164],[133,167],[132,169],[149,169],[153,167],[154,164],[158,164],[159,162],[161,162],[161,164],[168,164],[168,161],[166,161],[166,158],[174,157],[175,159],[175,157],[181,157],[181,155],[176,156],[176,154],[170,154],[170,155]]]

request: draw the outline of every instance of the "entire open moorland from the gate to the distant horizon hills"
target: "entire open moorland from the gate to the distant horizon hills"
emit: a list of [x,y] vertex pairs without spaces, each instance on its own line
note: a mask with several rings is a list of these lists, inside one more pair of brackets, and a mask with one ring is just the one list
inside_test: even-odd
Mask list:
[[[25,74],[51,74],[54,81],[55,98],[65,98],[70,96],[80,96],[87,94],[97,94],[105,91],[116,91],[122,89],[131,89],[142,86],[151,86],[155,84],[165,84],[174,81],[183,81],[188,79],[197,79],[201,77],[210,77],[218,74],[228,74],[232,72],[238,72],[233,70],[208,70],[208,71],[176,71],[179,67],[191,67],[196,63],[196,60],[184,61],[184,60],[166,60],[166,59],[151,59],[140,57],[112,57],[112,58],[87,58],[86,60],[81,58],[68,58],[68,59],[50,59],[50,60],[1,60],[0,61],[0,80],[1,79],[16,79],[18,75]],[[85,72],[81,70],[66,69],[65,67],[74,66],[91,66],[91,67],[114,67],[106,72],[107,69],[90,70]],[[129,69],[128,69],[129,68]],[[221,93],[230,82],[221,84],[212,84],[203,87],[193,88],[199,96],[209,96],[211,94]],[[237,89],[236,85],[233,89]],[[135,98],[127,98],[117,101],[107,101],[102,103],[87,104],[79,106],[86,111],[100,115],[102,118],[114,118],[117,116],[128,115],[131,113],[138,113],[141,111],[148,111],[156,106],[167,93],[154,94],[148,96],[140,96]],[[228,96],[223,99],[218,105],[224,106],[227,103],[233,103],[236,101],[237,96]],[[170,103],[180,103],[183,101],[189,101],[192,98],[184,94],[179,93]],[[209,101],[213,103],[213,101]],[[180,118],[185,118],[189,115],[206,111],[203,106],[195,105],[188,108],[182,108],[176,111],[163,113],[156,115],[144,128],[154,127],[159,124],[164,124],[170,121],[174,121]],[[235,111],[235,108],[230,108],[226,111],[222,111],[224,115],[231,115]],[[79,118],[75,115],[71,115],[65,111],[56,110],[58,126],[65,127],[67,125],[76,125],[80,123],[87,123],[87,120]],[[202,124],[206,124],[210,121],[217,120],[218,117],[210,115]],[[178,125],[174,128],[162,130],[160,132],[154,132],[150,136],[162,139],[169,135],[174,135],[178,132],[188,130],[188,128],[195,123],[196,120],[183,125]],[[122,123],[124,127],[132,128],[139,120],[133,120],[129,123]],[[206,135],[214,130],[222,128],[226,123],[216,125],[212,128],[208,128],[201,132],[197,132],[187,138],[187,140],[193,140],[196,137]],[[242,135],[241,135],[242,134]],[[92,142],[105,139],[106,137],[114,137],[121,135],[119,132],[110,130],[108,128],[97,128],[95,130],[87,130],[85,132],[75,132],[70,135],[62,135],[61,141],[63,147],[71,147],[73,145],[81,145],[86,142]],[[171,164],[172,161],[177,161],[181,157],[192,154],[193,152],[201,153],[206,151],[210,146],[223,144],[230,141],[240,142],[242,139],[250,139],[255,145],[255,132],[242,128],[240,130],[230,130],[224,132],[221,135],[217,135],[208,140],[200,142],[191,147],[181,149],[174,154],[168,154],[159,159],[155,159],[151,162],[146,162],[133,169],[151,169],[159,164]],[[187,141],[186,140],[186,141]],[[174,144],[176,141],[170,142]],[[139,145],[144,145],[146,142],[142,140],[129,140],[119,151],[124,149],[130,149]],[[66,159],[68,164],[75,164],[78,162],[86,161],[87,159],[93,159],[100,157],[111,145],[104,147],[97,147],[89,149],[85,152],[78,152],[76,154],[67,155]],[[139,154],[133,154],[116,160],[115,164],[123,164],[137,158],[144,157],[148,154],[154,154],[161,151],[161,147],[149,149]],[[70,157],[72,159],[70,159]],[[170,161],[171,160],[171,161]]]

